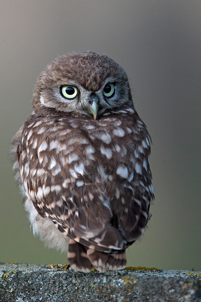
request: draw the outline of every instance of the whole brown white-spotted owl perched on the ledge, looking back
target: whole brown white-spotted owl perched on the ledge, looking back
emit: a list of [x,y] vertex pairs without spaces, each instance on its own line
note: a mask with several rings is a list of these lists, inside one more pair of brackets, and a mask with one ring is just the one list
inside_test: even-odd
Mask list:
[[124,69],[93,52],[55,59],[11,153],[34,234],[68,251],[74,270],[125,268],[154,194],[150,136]]

